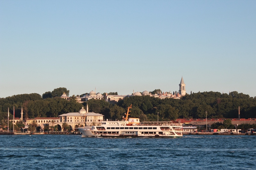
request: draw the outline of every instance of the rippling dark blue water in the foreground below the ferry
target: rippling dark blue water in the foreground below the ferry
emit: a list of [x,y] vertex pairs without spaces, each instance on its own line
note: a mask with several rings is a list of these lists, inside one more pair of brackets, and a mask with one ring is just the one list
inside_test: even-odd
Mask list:
[[0,169],[256,169],[255,139],[1,135]]

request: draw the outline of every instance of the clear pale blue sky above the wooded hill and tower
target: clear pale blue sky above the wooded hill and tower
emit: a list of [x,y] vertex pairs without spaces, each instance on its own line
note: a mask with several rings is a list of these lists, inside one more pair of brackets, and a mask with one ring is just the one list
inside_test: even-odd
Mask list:
[[153,91],[256,96],[255,0],[0,0],[0,98]]

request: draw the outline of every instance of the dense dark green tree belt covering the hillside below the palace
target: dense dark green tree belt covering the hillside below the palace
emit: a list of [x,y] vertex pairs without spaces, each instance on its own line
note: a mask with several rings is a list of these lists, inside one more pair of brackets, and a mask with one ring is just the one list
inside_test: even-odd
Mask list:
[[[54,90],[59,91],[58,96],[63,94],[63,91],[69,92],[66,88]],[[24,118],[35,118],[58,117],[61,114],[78,112],[82,107],[85,108],[87,103],[90,112],[100,113],[105,116],[105,119],[111,120],[121,120],[131,104],[131,116],[139,117],[142,121],[205,118],[205,111],[207,111],[207,118],[237,118],[239,106],[241,118],[256,118],[256,98],[234,91],[229,94],[197,92],[186,94],[181,99],[132,96],[119,100],[116,104],[94,99],[77,103],[75,98],[68,101],[60,97],[43,99],[40,94],[36,93],[20,94],[0,99],[0,120],[7,119],[8,107],[10,116],[12,115],[13,106],[15,117],[20,117],[22,106]]]

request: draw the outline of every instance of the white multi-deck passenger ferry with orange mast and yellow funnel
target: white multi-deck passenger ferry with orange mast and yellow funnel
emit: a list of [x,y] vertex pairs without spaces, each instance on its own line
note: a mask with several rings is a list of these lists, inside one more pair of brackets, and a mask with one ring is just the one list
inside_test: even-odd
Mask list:
[[81,127],[82,137],[182,137],[182,125],[172,122],[140,122],[139,118],[128,118],[123,121],[102,121],[101,125]]

